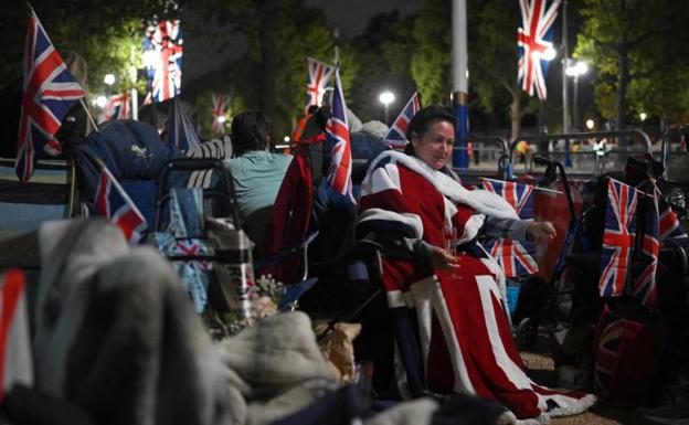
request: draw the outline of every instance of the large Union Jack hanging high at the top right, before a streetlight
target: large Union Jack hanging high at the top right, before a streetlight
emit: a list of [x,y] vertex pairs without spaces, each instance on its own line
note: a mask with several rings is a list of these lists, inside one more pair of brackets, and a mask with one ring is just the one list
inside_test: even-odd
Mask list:
[[552,24],[558,18],[560,1],[545,8],[547,0],[519,0],[522,26],[517,30],[519,46],[518,78],[521,89],[529,96],[536,91],[539,99],[545,99],[545,74],[548,61],[542,61],[543,53],[552,47]]

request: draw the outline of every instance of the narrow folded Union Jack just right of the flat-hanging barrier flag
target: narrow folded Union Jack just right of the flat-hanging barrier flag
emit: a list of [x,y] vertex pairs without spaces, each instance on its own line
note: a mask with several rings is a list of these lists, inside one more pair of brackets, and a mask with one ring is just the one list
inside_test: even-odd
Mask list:
[[658,270],[658,254],[660,242],[658,233],[658,194],[654,195],[649,208],[644,209],[644,241],[642,252],[634,262],[632,285],[627,287],[627,294],[649,309],[658,307],[658,293],[656,274]]

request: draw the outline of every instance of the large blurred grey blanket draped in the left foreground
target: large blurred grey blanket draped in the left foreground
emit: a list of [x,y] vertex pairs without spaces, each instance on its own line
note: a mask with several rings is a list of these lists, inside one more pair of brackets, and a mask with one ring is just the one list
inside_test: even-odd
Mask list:
[[39,242],[40,390],[98,424],[245,422],[229,370],[156,251],[131,248],[99,220],[46,223]]

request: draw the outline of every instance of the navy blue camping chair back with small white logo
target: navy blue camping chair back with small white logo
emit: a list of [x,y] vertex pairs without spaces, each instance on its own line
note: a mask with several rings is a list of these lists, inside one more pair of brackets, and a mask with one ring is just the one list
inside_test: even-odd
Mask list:
[[[166,161],[180,157],[177,147],[165,144],[158,130],[131,119],[113,120],[74,147],[77,187],[82,199],[93,203],[102,161],[137,205],[148,223],[156,216],[157,179]],[[178,174],[177,183],[188,177]]]

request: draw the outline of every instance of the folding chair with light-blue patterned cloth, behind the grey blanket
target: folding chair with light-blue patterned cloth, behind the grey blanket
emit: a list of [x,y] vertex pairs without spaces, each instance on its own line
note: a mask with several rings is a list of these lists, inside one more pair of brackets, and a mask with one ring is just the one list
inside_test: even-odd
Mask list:
[[[176,184],[176,174],[197,171],[215,173],[218,184],[206,189]],[[172,263],[195,311],[221,337],[226,332],[218,314],[242,307],[225,266],[244,270],[251,265],[251,243],[237,231],[240,220],[232,176],[221,160],[178,158],[165,163],[158,179],[152,240]],[[243,242],[236,245],[237,241]]]

